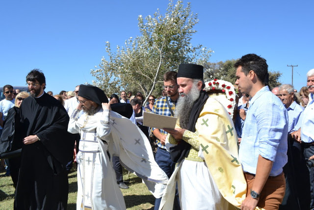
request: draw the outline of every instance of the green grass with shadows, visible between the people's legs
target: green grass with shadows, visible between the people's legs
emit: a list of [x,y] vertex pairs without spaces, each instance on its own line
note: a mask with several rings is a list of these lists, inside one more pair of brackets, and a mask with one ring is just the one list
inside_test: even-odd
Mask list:
[[[0,172],[0,210],[12,210],[14,202],[14,187],[11,177],[4,176],[5,171]],[[122,189],[122,194],[126,202],[128,210],[153,210],[155,198],[148,191],[146,185],[142,180],[130,174],[128,171],[123,171],[123,179],[128,182],[129,189]],[[71,170],[69,174],[69,197],[68,210],[76,209],[77,199],[77,171]]]

